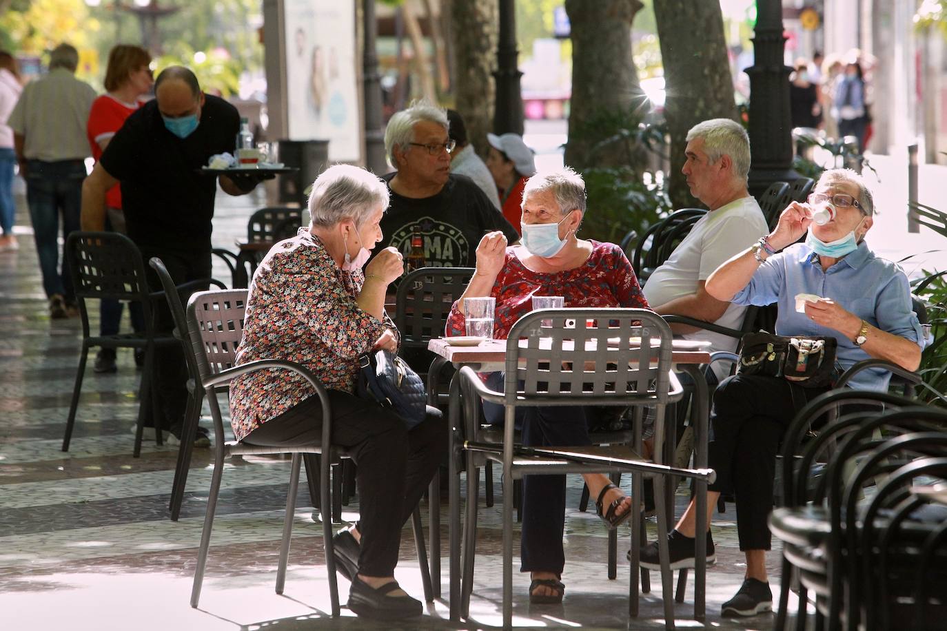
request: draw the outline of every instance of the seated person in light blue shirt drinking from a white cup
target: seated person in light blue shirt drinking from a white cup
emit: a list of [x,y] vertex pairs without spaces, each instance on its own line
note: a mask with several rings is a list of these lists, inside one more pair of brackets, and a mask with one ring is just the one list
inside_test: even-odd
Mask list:
[[[826,203],[833,217],[818,225],[813,211]],[[873,212],[862,176],[850,169],[826,171],[808,203],[791,203],[772,233],[710,274],[706,290],[738,305],[778,303],[777,335],[835,338],[836,362],[843,370],[869,358],[917,370],[924,342],[910,286],[901,268],[868,248],[865,235]],[[805,243],[796,243],[807,233]],[[821,297],[807,301],[799,313],[795,296],[800,293]],[[890,377],[884,368],[871,368],[849,385],[885,390]],[[767,518],[773,510],[777,450],[795,413],[829,390],[803,388],[782,377],[736,375],[714,393],[707,466],[717,472],[717,480],[707,486],[706,523],[720,494],[734,493],[740,549],[746,555],[745,580],[724,603],[724,616],[753,616],[772,608],[765,552],[771,547]],[[694,567],[695,522],[691,501],[668,535],[673,570]],[[716,560],[709,526],[705,536],[709,563]],[[656,542],[642,548],[641,566],[660,570]]]

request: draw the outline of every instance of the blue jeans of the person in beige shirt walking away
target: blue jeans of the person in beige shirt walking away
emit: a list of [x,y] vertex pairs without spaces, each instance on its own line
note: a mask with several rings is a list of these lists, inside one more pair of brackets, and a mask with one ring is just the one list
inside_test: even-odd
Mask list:
[[59,218],[63,214],[63,239],[80,228],[82,181],[85,163],[82,160],[59,162],[27,161],[27,205],[33,223],[36,254],[43,272],[46,296],[59,293],[66,300],[75,297],[69,264],[63,257],[59,268]]

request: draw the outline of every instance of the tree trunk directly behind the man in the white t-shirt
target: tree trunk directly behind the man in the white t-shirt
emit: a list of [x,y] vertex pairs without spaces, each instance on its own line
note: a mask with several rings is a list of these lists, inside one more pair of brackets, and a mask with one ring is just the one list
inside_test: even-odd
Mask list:
[[[654,0],[654,17],[668,95],[670,200],[675,208],[695,206],[699,204],[681,173],[688,130],[708,118],[738,120],[724,17],[720,3],[693,0]],[[695,25],[700,25],[699,33]]]

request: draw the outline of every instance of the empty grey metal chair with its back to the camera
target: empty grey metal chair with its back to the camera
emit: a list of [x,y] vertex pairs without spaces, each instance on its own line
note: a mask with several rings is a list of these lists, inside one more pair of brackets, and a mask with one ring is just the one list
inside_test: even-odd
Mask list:
[[[551,323],[544,325],[543,321]],[[566,328],[566,321],[575,323]],[[653,406],[655,421],[655,462],[661,463],[665,434],[665,407],[680,398],[682,389],[671,373],[671,332],[664,320],[648,309],[636,308],[568,308],[532,311],[513,324],[509,331],[506,353],[504,392],[494,392],[480,380],[474,370],[460,369],[464,398],[479,396],[506,409],[502,443],[495,452],[464,449],[467,461],[468,499],[463,546],[463,611],[468,611],[474,577],[474,545],[476,541],[476,467],[477,461],[490,459],[503,465],[503,486],[512,488],[513,480],[529,474],[615,473],[603,464],[587,464],[563,458],[515,456],[514,419],[521,406]],[[465,431],[479,441],[474,433],[477,419],[468,418]],[[602,456],[620,454],[642,463],[640,424],[635,428],[634,446],[575,447],[563,446],[576,454]],[[470,440],[470,438],[468,438]],[[557,447],[550,447],[557,448]],[[671,474],[669,467],[660,474],[651,474],[655,484],[658,521],[658,545],[664,578],[664,609],[668,627],[673,626],[674,610],[670,589],[670,561],[667,543],[668,511],[664,506],[663,487]],[[644,474],[632,473],[632,515],[641,511]],[[473,481],[473,482],[472,482]],[[706,493],[706,484],[697,485],[697,493]],[[453,506],[452,511],[459,510]],[[452,517],[454,519],[454,517]],[[513,504],[503,502],[503,623],[512,622],[512,521]],[[632,529],[632,565],[629,613],[638,611],[639,551],[644,543],[639,528]]]

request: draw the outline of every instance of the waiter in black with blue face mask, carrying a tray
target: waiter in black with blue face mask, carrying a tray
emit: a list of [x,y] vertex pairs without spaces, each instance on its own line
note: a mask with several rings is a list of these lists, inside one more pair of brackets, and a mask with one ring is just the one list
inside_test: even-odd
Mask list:
[[[201,173],[210,157],[233,153],[240,115],[223,98],[205,95],[188,68],[170,66],[154,80],[155,98],[131,114],[82,184],[82,229],[105,227],[108,190],[121,183],[122,211],[128,237],[144,260],[164,261],[175,285],[210,278],[210,233],[217,183]],[[88,145],[86,144],[86,149]],[[272,174],[220,176],[228,195],[246,195]],[[161,289],[147,267],[149,285]],[[181,296],[187,304],[188,296]],[[157,307],[157,330],[174,328],[170,309]],[[188,368],[180,346],[155,354],[159,427],[170,444],[181,440],[188,402]],[[209,447],[209,433],[198,428],[195,447]]]

